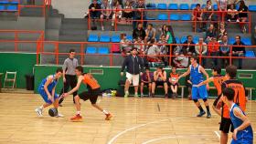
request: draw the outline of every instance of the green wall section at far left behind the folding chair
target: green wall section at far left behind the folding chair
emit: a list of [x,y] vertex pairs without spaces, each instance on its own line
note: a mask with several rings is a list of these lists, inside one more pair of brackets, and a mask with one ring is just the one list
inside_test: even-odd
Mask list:
[[4,86],[5,72],[16,71],[16,87],[25,88],[25,75],[33,74],[33,67],[36,63],[36,54],[0,53],[0,73],[4,73],[1,79],[2,86]]

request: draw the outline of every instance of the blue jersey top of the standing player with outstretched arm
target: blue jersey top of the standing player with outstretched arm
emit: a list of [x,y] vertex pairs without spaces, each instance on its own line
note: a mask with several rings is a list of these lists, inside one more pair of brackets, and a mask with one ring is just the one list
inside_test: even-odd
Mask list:
[[193,67],[192,65],[189,66],[190,68],[190,80],[193,85],[198,85],[199,83],[203,82],[205,78],[203,77],[203,74],[200,72],[199,67],[200,65],[197,65],[197,67]]

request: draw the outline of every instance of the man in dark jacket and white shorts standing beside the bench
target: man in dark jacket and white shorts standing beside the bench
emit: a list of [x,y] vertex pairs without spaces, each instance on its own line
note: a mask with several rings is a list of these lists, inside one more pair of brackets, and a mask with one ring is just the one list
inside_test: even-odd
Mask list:
[[121,68],[121,76],[123,76],[124,68],[126,70],[126,81],[124,86],[124,98],[129,96],[129,87],[133,83],[134,86],[134,97],[138,97],[138,86],[139,86],[139,79],[144,71],[144,62],[141,57],[137,56],[137,49],[133,48],[131,55],[126,57],[123,61],[123,67]]

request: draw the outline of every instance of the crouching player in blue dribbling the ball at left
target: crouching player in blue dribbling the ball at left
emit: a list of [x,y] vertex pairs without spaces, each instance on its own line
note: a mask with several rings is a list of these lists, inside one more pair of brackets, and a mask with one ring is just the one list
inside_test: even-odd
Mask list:
[[[59,77],[62,76],[62,72],[62,69],[58,68],[54,75],[49,75],[41,81],[38,87],[38,93],[44,99],[45,104],[35,109],[39,117],[43,116],[43,108],[47,108],[51,104],[53,104],[54,108],[59,107],[59,96],[55,93],[55,87],[58,83]],[[63,116],[58,114],[57,117]]]

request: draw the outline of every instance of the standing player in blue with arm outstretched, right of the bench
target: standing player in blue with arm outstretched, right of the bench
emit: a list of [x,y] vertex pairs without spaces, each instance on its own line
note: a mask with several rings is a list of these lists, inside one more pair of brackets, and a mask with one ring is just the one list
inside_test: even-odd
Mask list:
[[192,99],[194,100],[195,104],[197,105],[197,108],[199,108],[200,112],[197,115],[197,117],[202,117],[206,114],[205,110],[201,107],[200,102],[198,101],[199,98],[202,98],[204,100],[205,106],[207,108],[207,118],[211,117],[209,107],[208,107],[208,84],[203,85],[200,87],[197,87],[197,85],[205,80],[204,75],[208,79],[208,73],[206,72],[204,67],[201,67],[197,63],[197,57],[193,56],[190,57],[191,65],[187,68],[187,72],[185,72],[183,75],[179,76],[178,79],[181,77],[186,77],[190,74],[190,81],[192,82]]

